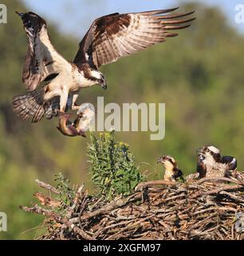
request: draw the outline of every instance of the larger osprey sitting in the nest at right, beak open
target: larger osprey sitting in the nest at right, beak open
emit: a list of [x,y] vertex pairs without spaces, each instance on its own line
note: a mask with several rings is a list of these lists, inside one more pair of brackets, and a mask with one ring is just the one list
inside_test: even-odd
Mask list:
[[222,156],[215,146],[203,146],[197,150],[199,155],[197,171],[199,177],[229,177],[237,168],[234,157]]

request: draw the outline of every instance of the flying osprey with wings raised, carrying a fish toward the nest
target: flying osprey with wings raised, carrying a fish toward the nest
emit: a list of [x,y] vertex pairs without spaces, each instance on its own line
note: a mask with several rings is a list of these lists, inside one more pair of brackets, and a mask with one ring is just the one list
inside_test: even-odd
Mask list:
[[[164,42],[177,35],[171,30],[190,26],[195,18],[183,17],[193,12],[167,14],[176,9],[97,18],[82,39],[73,62],[66,61],[54,49],[43,18],[32,12],[18,13],[29,39],[22,80],[30,92],[13,98],[14,111],[23,119],[38,122],[44,114],[52,118],[53,110],[77,109],[75,101],[81,88],[100,85],[106,89],[104,75],[98,70],[101,65]],[[36,89],[43,81],[49,82]]]

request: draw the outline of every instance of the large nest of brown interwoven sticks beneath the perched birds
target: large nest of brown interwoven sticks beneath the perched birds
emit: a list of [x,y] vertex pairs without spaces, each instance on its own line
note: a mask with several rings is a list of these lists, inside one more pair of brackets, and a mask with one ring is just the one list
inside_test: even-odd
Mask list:
[[[49,196],[34,194],[41,206],[20,206],[45,216],[39,239],[214,239],[244,238],[244,182],[202,178],[188,182],[144,182],[127,198],[106,202],[77,187],[64,206],[51,197],[57,188],[36,180]],[[54,197],[55,198],[55,197]]]

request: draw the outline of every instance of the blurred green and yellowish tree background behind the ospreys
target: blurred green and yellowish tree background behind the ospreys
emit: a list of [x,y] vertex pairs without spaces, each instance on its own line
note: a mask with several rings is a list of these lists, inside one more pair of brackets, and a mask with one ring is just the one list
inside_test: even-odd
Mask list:
[[[25,92],[22,65],[27,50],[22,22],[14,11],[26,8],[21,1],[2,3],[8,6],[8,23],[0,25],[0,212],[8,216],[8,232],[0,232],[0,238],[26,239],[38,235],[31,229],[42,219],[18,209],[39,189],[34,178],[53,182],[54,174],[62,172],[90,190],[88,139],[64,137],[56,130],[57,119],[44,118],[33,125],[13,113],[12,97]],[[150,132],[116,134],[131,146],[136,162],[151,165],[142,166],[148,169],[148,179],[162,177],[162,167],[155,163],[161,154],[174,156],[184,174],[195,172],[195,150],[205,144],[234,155],[240,170],[244,164],[244,36],[218,8],[189,3],[182,9],[196,10],[191,28],[144,53],[104,66],[108,90],[95,86],[81,91],[81,102],[95,106],[97,96],[119,104],[166,103],[163,140],[150,141]],[[72,60],[81,38],[59,34],[51,24],[49,35],[57,50]]]

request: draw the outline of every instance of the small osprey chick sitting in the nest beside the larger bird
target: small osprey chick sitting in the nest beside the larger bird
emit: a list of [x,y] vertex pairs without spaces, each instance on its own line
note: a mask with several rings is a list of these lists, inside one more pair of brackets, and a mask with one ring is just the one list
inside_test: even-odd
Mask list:
[[164,180],[168,182],[175,182],[177,178],[183,178],[183,172],[179,170],[175,158],[165,154],[158,159],[158,163],[163,163],[165,167]]

